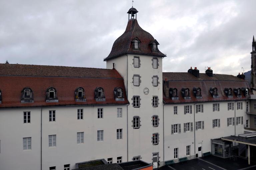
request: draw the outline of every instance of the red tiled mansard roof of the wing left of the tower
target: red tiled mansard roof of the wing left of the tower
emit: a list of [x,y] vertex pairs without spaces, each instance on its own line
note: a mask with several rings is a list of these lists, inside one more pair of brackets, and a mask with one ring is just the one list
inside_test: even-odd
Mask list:
[[[34,103],[21,103],[21,91],[29,87]],[[59,102],[47,103],[46,90],[56,88]],[[75,90],[83,87],[86,102],[75,101]],[[106,101],[96,102],[94,90],[102,87]],[[125,101],[115,101],[114,88],[121,87]],[[1,107],[31,107],[57,105],[127,104],[124,80],[114,69],[63,66],[0,64]]]

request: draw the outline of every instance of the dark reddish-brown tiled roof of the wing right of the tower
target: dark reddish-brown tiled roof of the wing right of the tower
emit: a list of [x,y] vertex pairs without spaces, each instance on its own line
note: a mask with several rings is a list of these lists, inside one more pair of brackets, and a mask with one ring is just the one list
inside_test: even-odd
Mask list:
[[[177,88],[178,100],[172,100],[171,97],[165,97],[163,94],[163,100],[165,103],[186,103],[186,102],[207,102],[207,101],[233,101],[233,100],[246,100],[242,92],[242,97],[236,97],[234,94],[234,88],[249,88],[248,81],[240,79],[233,75],[214,74],[213,77],[208,77],[204,73],[200,73],[200,77],[196,78],[191,73],[163,73],[163,80],[169,84],[169,88]],[[181,89],[189,88],[191,99],[184,99],[182,97]],[[193,88],[200,87],[202,99],[197,99],[193,94]],[[218,89],[219,98],[213,98],[210,93],[210,88],[216,87]],[[233,98],[228,98],[224,93],[225,88],[231,88]],[[168,91],[169,92],[169,91]],[[168,93],[167,92],[167,93]]]

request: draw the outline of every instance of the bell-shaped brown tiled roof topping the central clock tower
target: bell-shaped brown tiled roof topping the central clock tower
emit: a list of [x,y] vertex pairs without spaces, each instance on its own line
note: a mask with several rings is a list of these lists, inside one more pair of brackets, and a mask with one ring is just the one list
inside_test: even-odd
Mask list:
[[[136,37],[141,41],[140,51],[133,50],[132,48],[131,42]],[[150,33],[144,31],[139,26],[137,19],[130,19],[128,21],[125,32],[119,38],[116,39],[110,54],[108,55],[108,57],[104,59],[104,61],[107,61],[112,58],[115,58],[124,54],[128,54],[128,53],[166,57],[166,55],[164,55],[160,51],[152,52],[150,43],[153,42],[154,40],[155,40],[154,37]]]

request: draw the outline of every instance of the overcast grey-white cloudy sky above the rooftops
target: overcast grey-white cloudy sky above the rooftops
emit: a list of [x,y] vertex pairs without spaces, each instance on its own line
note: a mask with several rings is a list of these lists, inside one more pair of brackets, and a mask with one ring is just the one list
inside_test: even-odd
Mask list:
[[[1,0],[0,63],[106,68],[132,0]],[[134,0],[139,25],[160,43],[164,72],[250,70],[255,0]]]

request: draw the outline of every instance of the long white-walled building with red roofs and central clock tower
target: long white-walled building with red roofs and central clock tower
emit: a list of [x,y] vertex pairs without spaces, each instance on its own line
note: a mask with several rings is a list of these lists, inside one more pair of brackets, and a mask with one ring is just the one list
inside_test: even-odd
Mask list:
[[163,73],[166,55],[137,12],[127,12],[107,69],[0,64],[0,170],[68,170],[102,158],[157,168],[244,133],[248,82],[210,68]]

